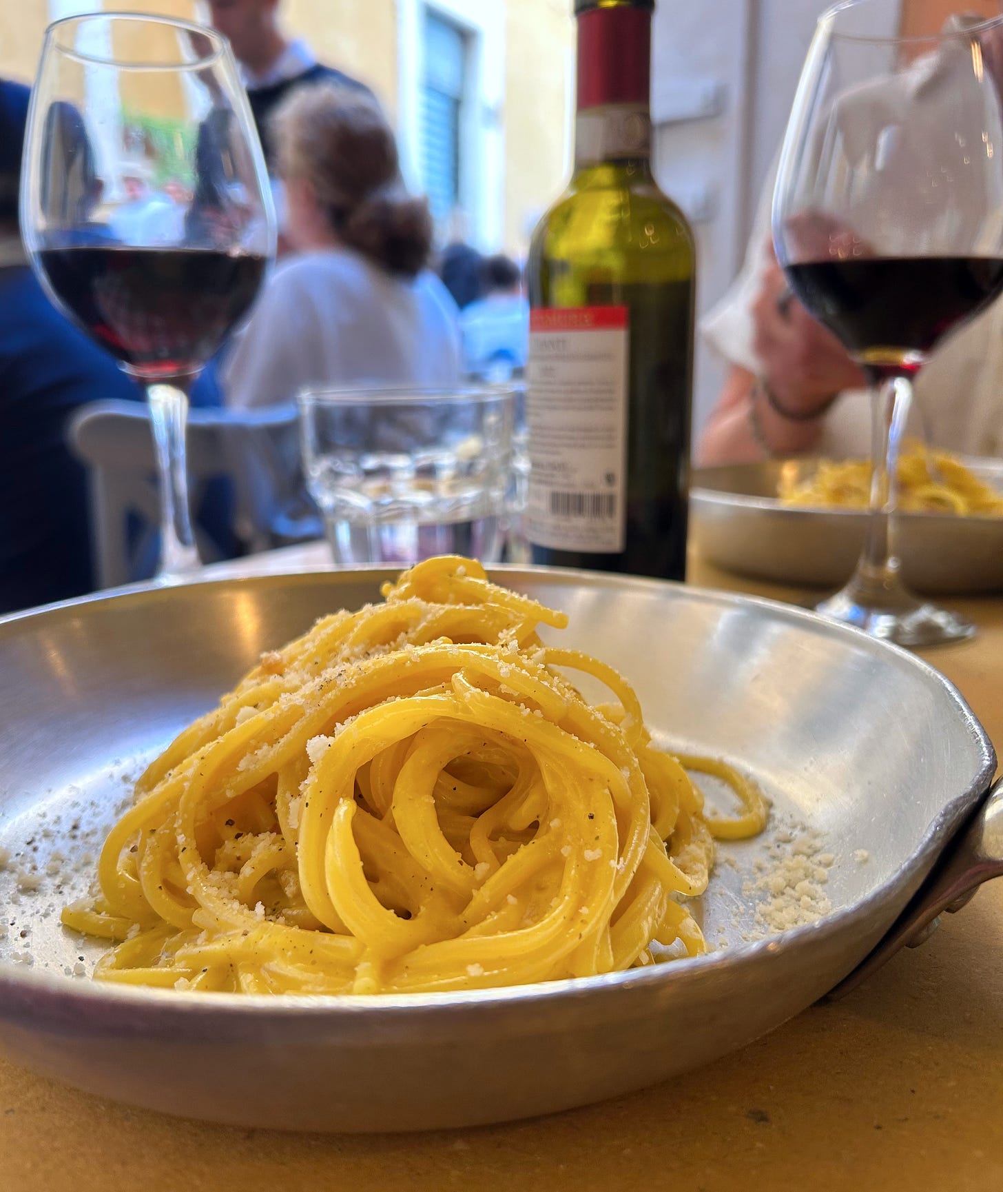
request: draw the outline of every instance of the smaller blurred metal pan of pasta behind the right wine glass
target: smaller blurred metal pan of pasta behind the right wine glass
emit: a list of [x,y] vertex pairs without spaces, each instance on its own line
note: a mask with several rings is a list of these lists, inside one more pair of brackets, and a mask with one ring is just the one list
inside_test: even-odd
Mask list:
[[[1003,460],[937,453],[929,474],[924,461],[907,458],[908,499],[897,515],[909,586],[1003,590]],[[809,458],[697,468],[691,509],[703,557],[759,579],[840,586],[864,544],[867,471],[859,461]]]

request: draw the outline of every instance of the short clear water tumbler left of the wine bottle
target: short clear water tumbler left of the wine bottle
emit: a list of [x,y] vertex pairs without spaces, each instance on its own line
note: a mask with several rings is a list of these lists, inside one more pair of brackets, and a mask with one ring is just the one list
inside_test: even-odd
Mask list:
[[497,563],[511,483],[515,391],[307,389],[306,485],[335,563],[466,554]]

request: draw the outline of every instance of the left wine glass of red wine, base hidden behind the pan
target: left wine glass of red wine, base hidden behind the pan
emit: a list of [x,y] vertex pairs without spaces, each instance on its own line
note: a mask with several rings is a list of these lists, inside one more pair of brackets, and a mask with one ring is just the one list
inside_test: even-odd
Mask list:
[[161,489],[157,578],[199,566],[188,390],[254,302],[275,252],[261,145],[225,38],[94,13],[45,33],[21,235],[50,298],[147,387]]

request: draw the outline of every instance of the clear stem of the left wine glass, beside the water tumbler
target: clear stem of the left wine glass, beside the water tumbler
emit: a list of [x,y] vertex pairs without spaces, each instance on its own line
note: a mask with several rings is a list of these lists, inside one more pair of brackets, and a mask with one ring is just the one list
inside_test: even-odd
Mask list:
[[192,519],[188,513],[188,468],[185,427],[188,395],[174,385],[147,390],[157,453],[161,497],[161,553],[157,579],[173,579],[199,566]]

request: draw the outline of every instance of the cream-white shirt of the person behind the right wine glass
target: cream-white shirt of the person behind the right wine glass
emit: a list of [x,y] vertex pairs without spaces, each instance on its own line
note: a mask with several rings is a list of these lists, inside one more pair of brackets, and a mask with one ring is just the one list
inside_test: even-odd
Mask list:
[[[971,93],[971,87],[951,86],[951,75],[955,69],[971,73],[971,63],[954,57],[953,48],[948,46],[936,58],[918,60],[910,72],[896,76],[891,85],[861,88],[843,97],[837,111],[841,135],[847,141],[856,139],[864,153],[864,147],[874,143],[874,122],[881,122],[879,126],[895,125],[901,134],[895,151],[903,155],[903,160],[911,157],[915,161],[923,154],[924,145],[954,137],[955,122],[951,119],[951,113],[957,111],[957,104],[970,101]],[[908,105],[908,119],[902,114],[904,105]],[[998,136],[998,113],[989,113],[986,119],[986,126]],[[771,260],[768,244],[774,185],[775,167],[760,195],[745,265],[730,290],[700,324],[702,333],[725,360],[753,373],[761,371],[761,362],[753,349],[752,304],[762,272]],[[927,223],[922,199],[917,188],[914,195],[905,195],[896,210],[890,210],[889,204],[876,203],[867,211],[874,221],[897,221],[903,237],[897,247],[903,255],[908,254],[910,246],[912,252],[922,255],[922,237],[939,234],[936,226]],[[959,221],[982,221],[984,211],[982,204],[965,211],[964,203],[959,201],[951,207],[947,217],[955,224]],[[1001,212],[1003,191],[995,215],[998,217]],[[856,230],[865,240],[873,237],[895,247],[887,226]],[[999,234],[992,219],[985,225],[966,226],[966,234],[976,242],[984,238],[991,246],[991,255],[998,252]],[[945,243],[948,242],[949,232],[945,232]],[[930,243],[929,249],[935,253],[937,247]],[[936,348],[920,372],[915,391],[917,409],[914,409],[910,420],[910,434],[922,434],[921,418],[924,418],[929,441],[934,446],[968,455],[1003,455],[1003,298]],[[818,449],[835,458],[867,455],[870,428],[866,395],[860,391],[845,393],[826,416]]]

